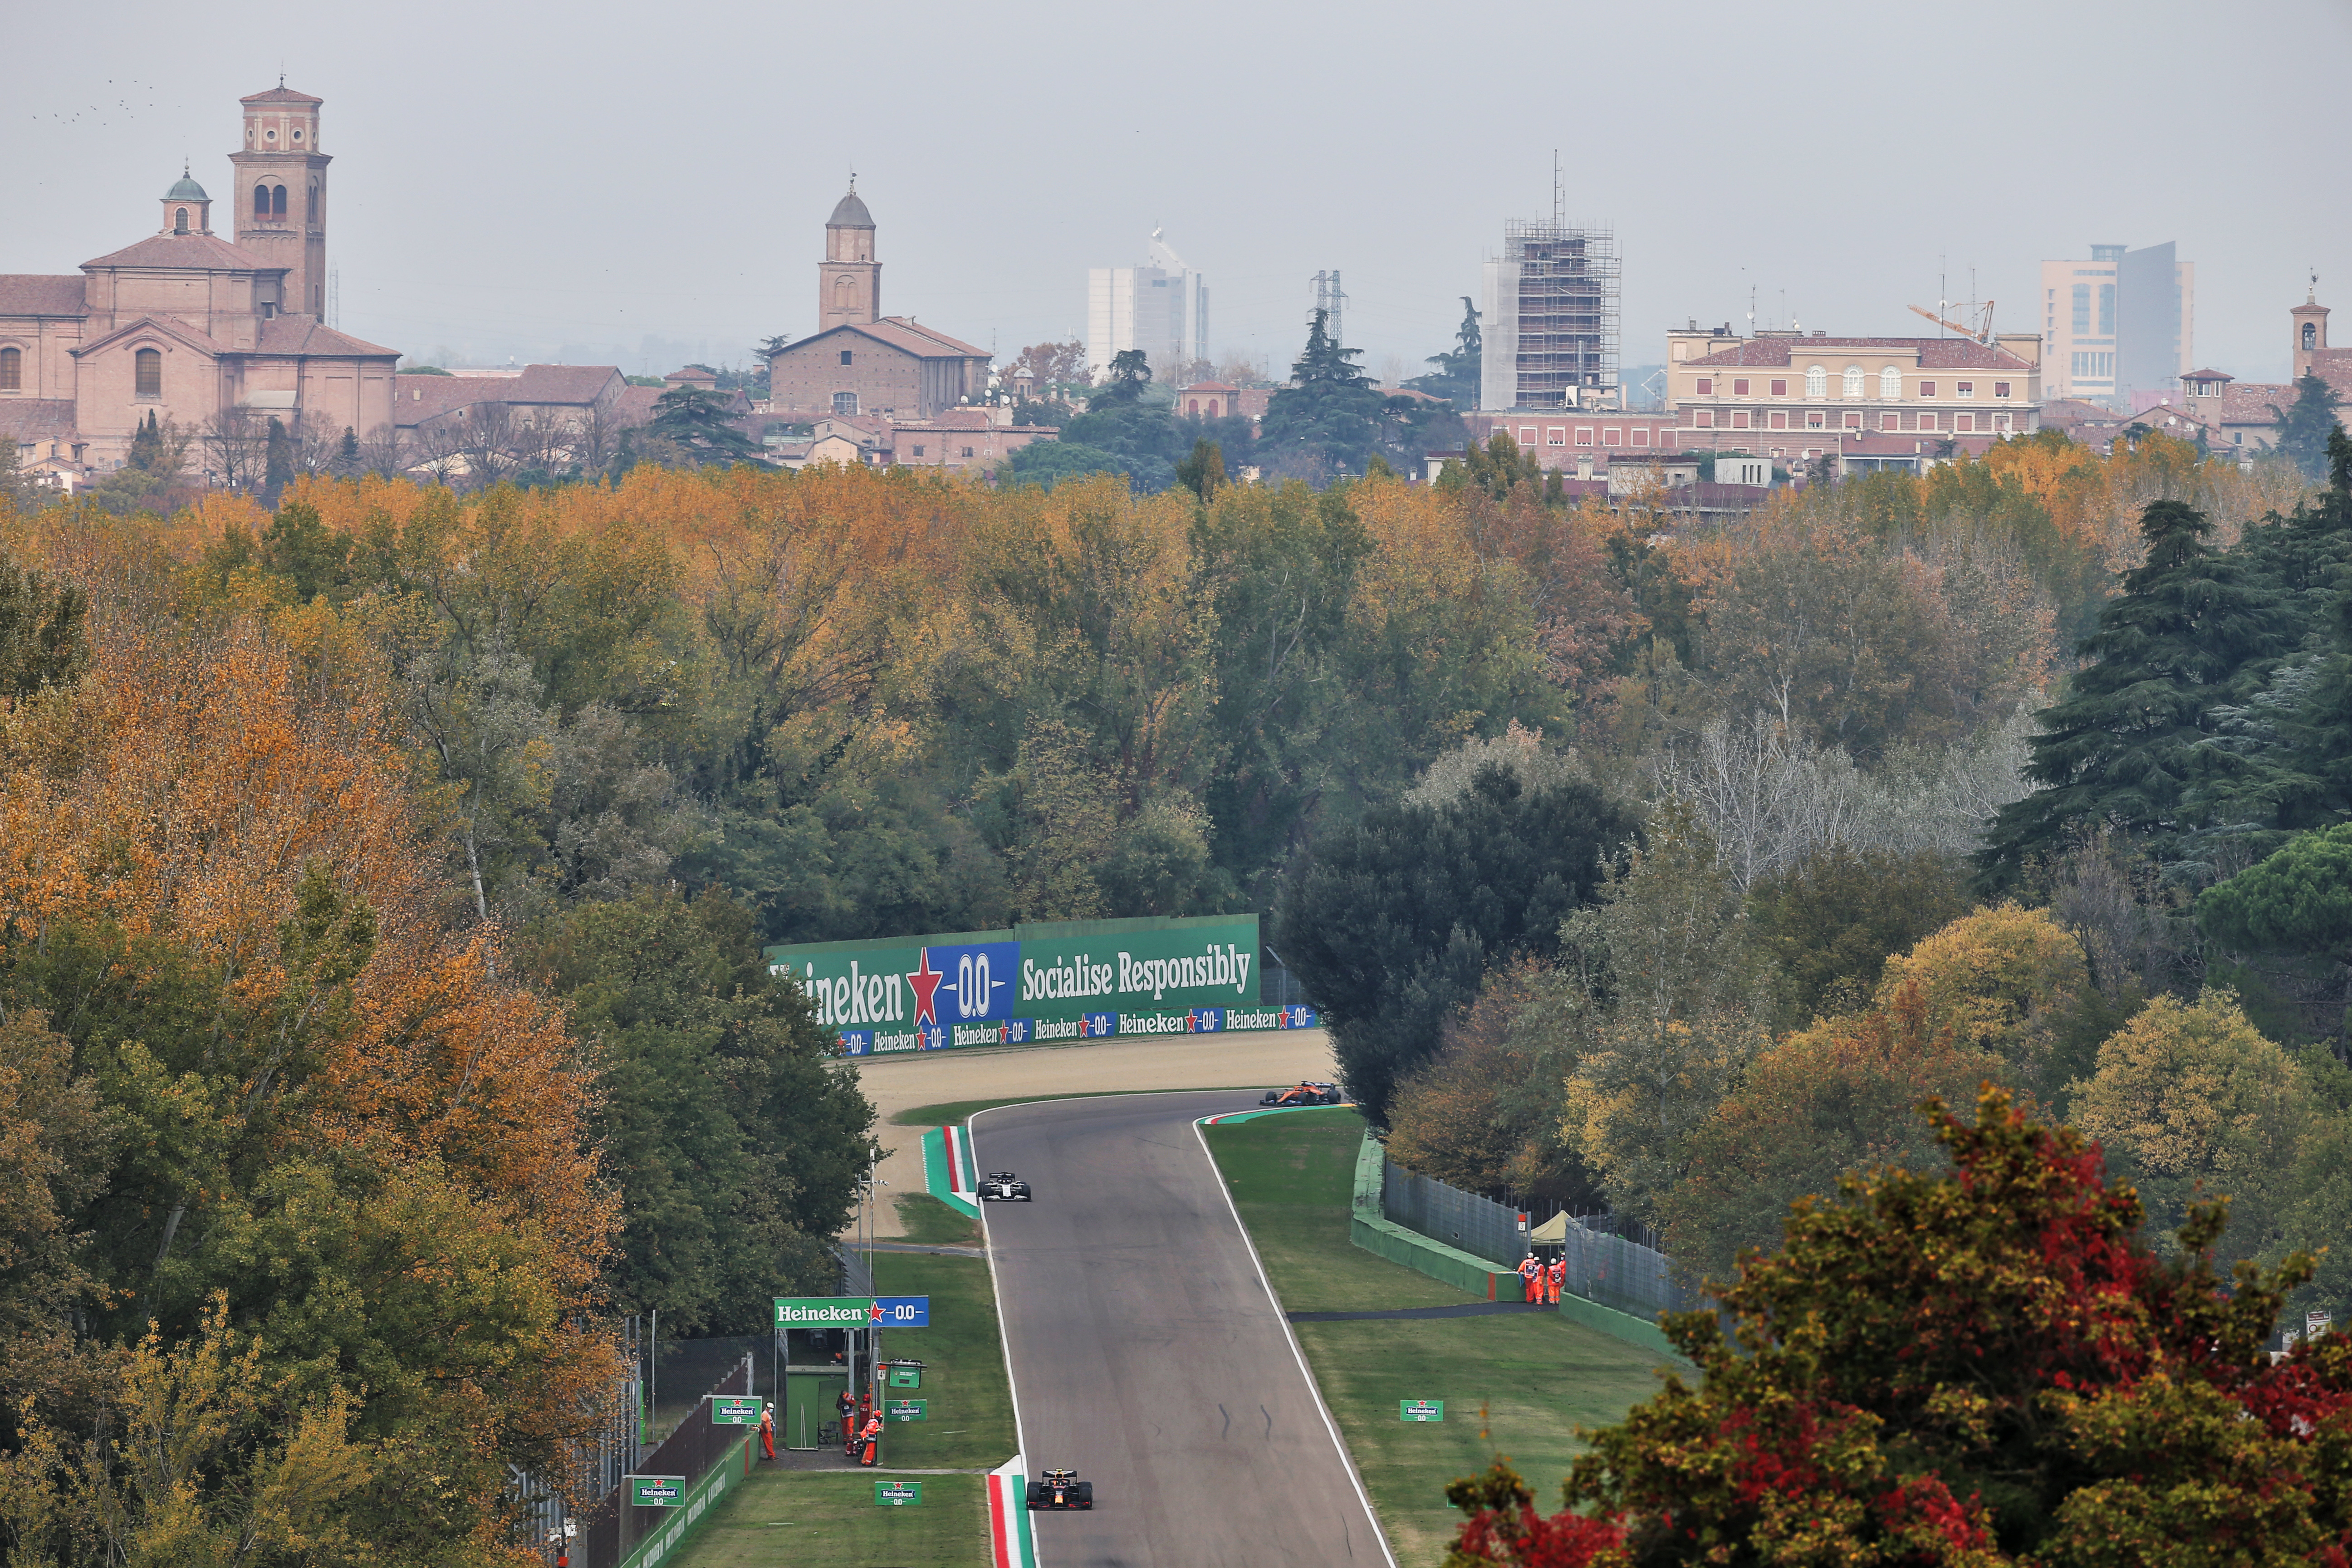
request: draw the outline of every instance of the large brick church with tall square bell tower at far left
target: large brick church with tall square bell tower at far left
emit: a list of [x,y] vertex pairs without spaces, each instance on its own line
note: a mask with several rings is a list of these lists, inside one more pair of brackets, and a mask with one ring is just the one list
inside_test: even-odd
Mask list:
[[242,103],[235,240],[181,172],[146,240],[78,275],[0,273],[0,437],[26,468],[68,482],[118,468],[148,414],[205,430],[247,409],[362,440],[393,423],[400,353],[325,324],[322,99],[280,82]]

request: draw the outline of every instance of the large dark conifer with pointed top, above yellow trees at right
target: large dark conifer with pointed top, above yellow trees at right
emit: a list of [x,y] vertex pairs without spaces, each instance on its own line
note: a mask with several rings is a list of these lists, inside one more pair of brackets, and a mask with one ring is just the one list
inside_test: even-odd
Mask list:
[[2070,827],[2110,823],[2173,853],[2192,830],[2194,748],[2213,708],[2241,701],[2293,644],[2291,616],[2251,567],[2206,545],[2213,524],[2180,501],[2140,512],[2147,562],[2074,651],[2091,661],[2044,708],[2027,776],[2042,785],[2002,809],[1978,856],[1990,889],[2060,849]]

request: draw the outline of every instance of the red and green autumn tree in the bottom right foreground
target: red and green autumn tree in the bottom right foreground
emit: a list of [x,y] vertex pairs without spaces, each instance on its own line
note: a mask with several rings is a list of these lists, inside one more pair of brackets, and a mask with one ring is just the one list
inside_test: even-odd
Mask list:
[[1717,1314],[1668,1319],[1668,1375],[1590,1434],[1541,1516],[1496,1465],[1456,1481],[1477,1563],[2303,1563],[2352,1544],[2333,1453],[2352,1340],[2272,1363],[2312,1260],[2213,1272],[2223,1206],[2171,1258],[2098,1150],[1978,1098],[1931,1107],[1950,1171],[1846,1175],[1790,1208]]

